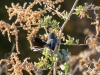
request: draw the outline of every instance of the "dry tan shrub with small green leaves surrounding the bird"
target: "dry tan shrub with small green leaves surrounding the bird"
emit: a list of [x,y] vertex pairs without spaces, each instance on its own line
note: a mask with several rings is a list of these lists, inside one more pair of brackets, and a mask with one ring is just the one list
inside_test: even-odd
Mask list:
[[[2,59],[0,60],[0,64],[2,62],[7,63],[7,65],[10,65],[10,68],[7,70],[9,71],[10,75],[23,75],[22,70],[26,70],[30,75],[33,75],[31,71],[33,71],[36,75],[43,75],[42,70],[44,69],[51,69],[48,75],[59,74],[59,75],[67,75],[67,74],[74,74],[73,71],[71,71],[70,68],[72,68],[70,65],[71,62],[71,56],[69,55],[69,52],[65,49],[60,49],[60,45],[88,45],[89,48],[95,51],[99,51],[100,43],[98,40],[99,38],[99,14],[96,12],[100,10],[99,6],[95,6],[93,4],[85,4],[84,6],[80,5],[76,7],[76,4],[78,0],[75,1],[73,4],[72,9],[70,12],[63,11],[60,12],[60,5],[58,7],[55,7],[56,4],[59,4],[63,2],[63,0],[34,0],[34,2],[24,3],[23,6],[21,6],[19,3],[11,4],[11,7],[5,6],[7,9],[9,20],[13,19],[14,16],[16,16],[16,20],[12,24],[8,24],[5,21],[0,21],[0,31],[3,35],[7,33],[8,39],[11,42],[11,35],[15,36],[16,41],[16,53],[12,52],[10,59]],[[33,10],[34,6],[39,4],[40,6],[43,6],[42,8],[38,8],[37,10]],[[68,39],[64,38],[64,33],[62,33],[65,25],[70,20],[70,17],[72,15],[78,16],[80,19],[83,17],[87,17],[89,19],[92,19],[92,17],[89,16],[87,13],[88,11],[93,11],[95,15],[95,21],[91,22],[91,25],[95,25],[96,34],[94,35],[87,35],[85,39],[84,44],[79,44],[78,39],[74,39],[73,37],[67,36]],[[51,16],[46,16],[48,12],[52,13]],[[64,23],[60,27],[60,23],[57,22],[55,19],[53,19],[53,15],[59,16],[59,18],[64,20]],[[30,43],[30,49],[32,49],[32,38],[36,37],[38,31],[41,28],[44,28],[45,32],[44,35],[40,35],[40,37],[43,40],[47,40],[48,36],[48,30],[47,27],[51,26],[53,31],[56,32],[57,39],[59,40],[59,45],[56,46],[55,50],[51,53],[47,53],[46,49],[43,50],[43,56],[39,59],[39,62],[34,64],[32,62],[28,62],[30,58],[25,58],[23,61],[21,61],[18,57],[20,54],[20,51],[18,49],[18,33],[20,32],[19,28],[22,28],[23,30],[27,31],[27,40]],[[65,39],[65,43],[61,43],[61,39]],[[61,52],[59,52],[61,51]],[[91,52],[93,54],[94,52]],[[53,56],[53,57],[52,57]],[[80,55],[80,64],[83,66],[83,68],[86,68],[84,71],[84,74],[86,73],[88,75],[99,75],[100,74],[100,63],[99,60],[90,60],[87,59],[89,55],[87,55],[85,58]],[[79,57],[77,59],[80,59]],[[50,63],[50,62],[51,63]],[[60,63],[58,66],[57,63]],[[64,63],[62,63],[64,62]],[[93,64],[92,68],[90,67],[91,64]]]

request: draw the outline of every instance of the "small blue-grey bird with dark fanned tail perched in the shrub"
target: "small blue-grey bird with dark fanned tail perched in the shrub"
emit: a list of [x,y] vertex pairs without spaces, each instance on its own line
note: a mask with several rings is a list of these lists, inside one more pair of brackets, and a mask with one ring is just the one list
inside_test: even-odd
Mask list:
[[32,44],[34,46],[33,51],[42,50],[44,47],[47,47],[51,50],[54,50],[56,45],[58,44],[58,39],[54,32],[48,34],[47,42],[44,42],[42,39],[35,37],[32,40]]

